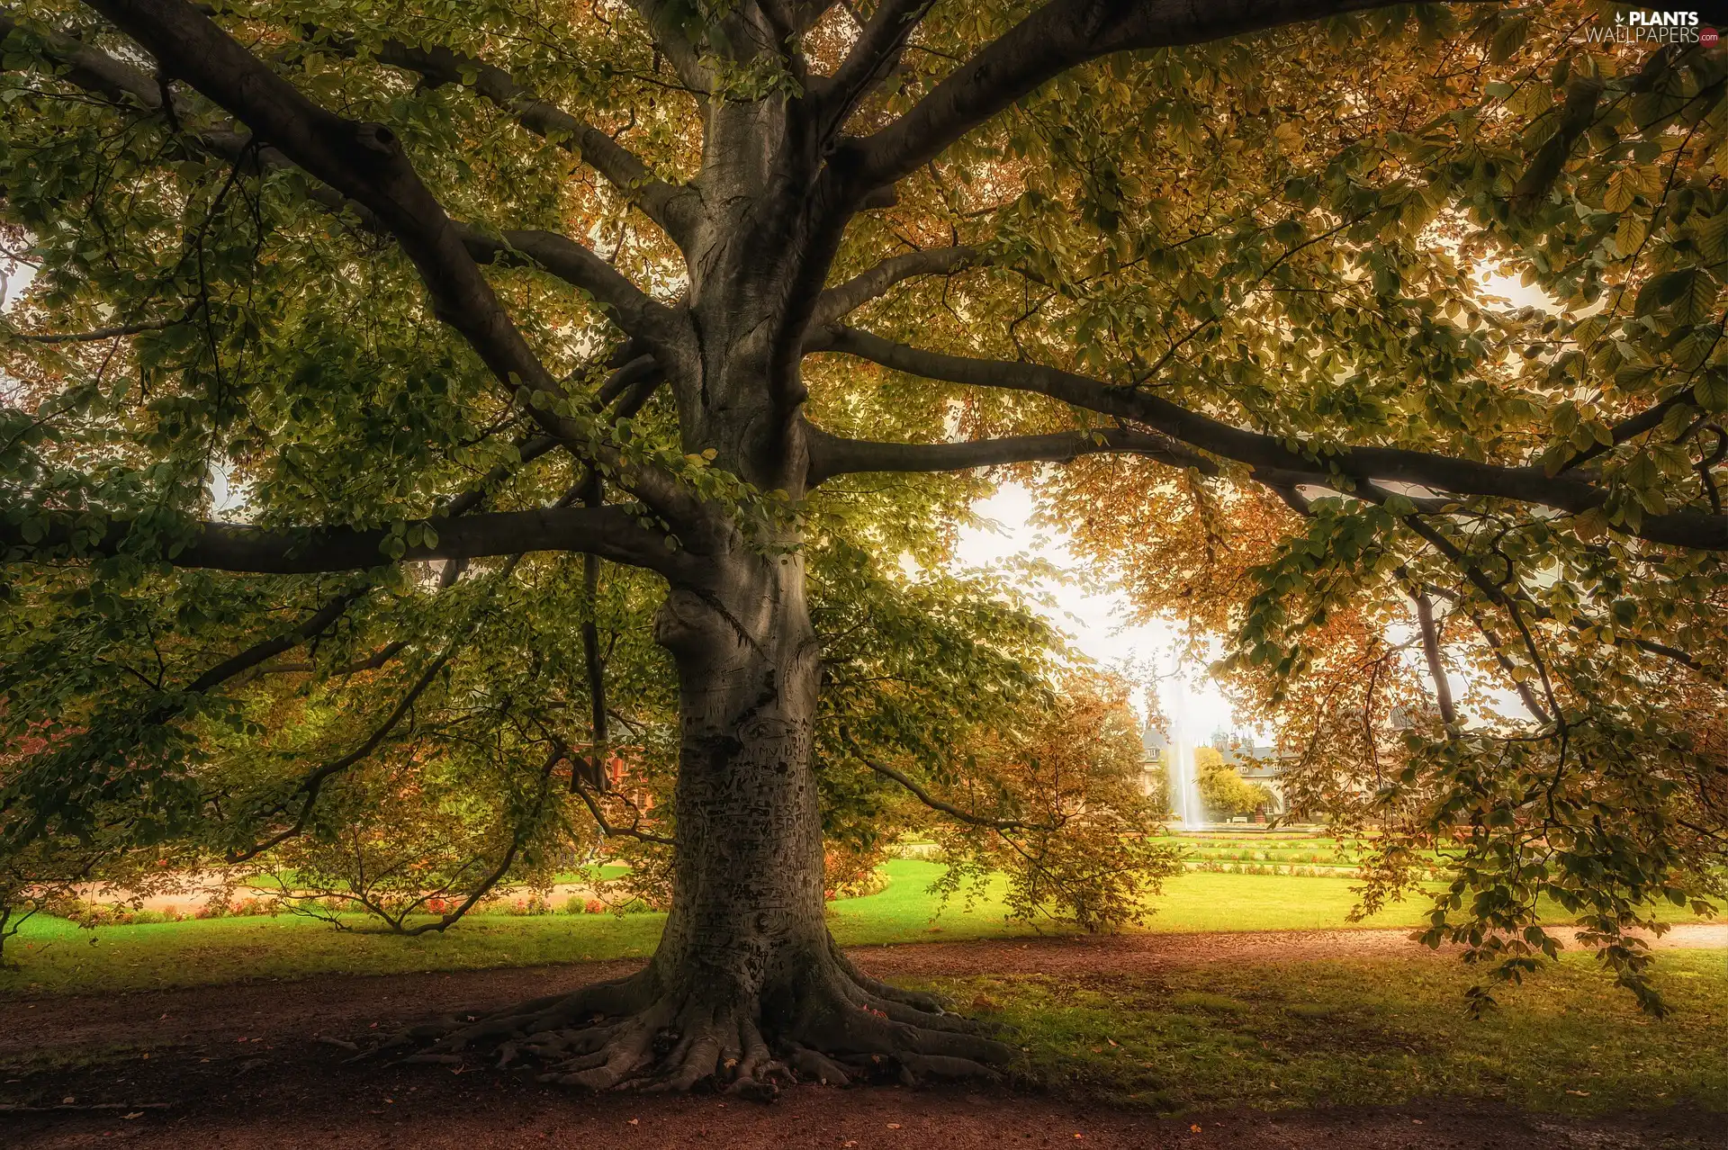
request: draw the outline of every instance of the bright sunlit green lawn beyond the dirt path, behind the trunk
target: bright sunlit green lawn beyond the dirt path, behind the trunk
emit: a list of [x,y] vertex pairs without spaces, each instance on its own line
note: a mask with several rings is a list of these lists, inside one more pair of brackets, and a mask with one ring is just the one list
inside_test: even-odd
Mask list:
[[[940,863],[895,860],[888,886],[833,905],[831,929],[845,945],[1004,938],[1056,931],[1006,917],[1002,882],[968,903],[942,907],[928,893]],[[1353,881],[1242,874],[1184,874],[1165,884],[1149,931],[1286,931],[1358,926],[1348,922]],[[1401,927],[1422,920],[1422,903],[1405,903],[1360,926]],[[1674,912],[1674,917],[1683,917]],[[351,926],[365,927],[359,919]],[[81,929],[36,917],[7,943],[0,996],[98,993],[197,986],[311,974],[403,974],[518,967],[586,958],[648,955],[664,915],[470,915],[446,934],[397,938],[365,929],[335,931],[292,915],[200,919]]]

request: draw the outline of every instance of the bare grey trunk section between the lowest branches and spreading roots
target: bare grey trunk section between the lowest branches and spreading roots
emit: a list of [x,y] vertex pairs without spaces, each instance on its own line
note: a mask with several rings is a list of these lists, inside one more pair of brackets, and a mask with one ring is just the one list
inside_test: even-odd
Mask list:
[[819,649],[800,556],[746,556],[674,589],[657,639],[679,675],[683,744],[664,986],[748,1002],[826,958],[810,742]]

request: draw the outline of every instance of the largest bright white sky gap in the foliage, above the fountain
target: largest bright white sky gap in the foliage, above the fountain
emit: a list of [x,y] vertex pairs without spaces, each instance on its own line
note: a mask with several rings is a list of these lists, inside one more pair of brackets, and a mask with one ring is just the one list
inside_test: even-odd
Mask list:
[[[1006,483],[995,496],[975,504],[975,511],[990,527],[968,527],[961,532],[959,566],[1042,559],[1066,572],[1068,578],[1061,582],[1052,578],[1020,582],[1033,592],[1040,601],[1039,610],[1070,635],[1078,651],[1106,668],[1127,668],[1135,682],[1144,682],[1147,673],[1159,675],[1158,694],[1166,713],[1182,698],[1177,680],[1168,679],[1180,670],[1189,687],[1184,729],[1204,739],[1218,727],[1236,727],[1230,706],[1208,679],[1206,668],[1192,663],[1177,668],[1175,629],[1166,623],[1134,623],[1127,596],[1085,570],[1070,549],[1066,532],[1032,523],[1032,494],[1023,485]],[[1135,705],[1139,706],[1140,699],[1135,699]]]

